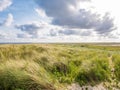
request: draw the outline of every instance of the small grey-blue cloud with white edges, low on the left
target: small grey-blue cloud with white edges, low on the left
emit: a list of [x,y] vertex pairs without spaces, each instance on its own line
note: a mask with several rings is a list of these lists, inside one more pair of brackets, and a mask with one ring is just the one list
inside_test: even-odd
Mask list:
[[45,22],[32,22],[23,25],[16,25],[15,28],[24,32],[24,34],[18,34],[18,38],[39,38],[45,35],[47,36],[49,31],[52,29],[57,29],[57,26],[53,26]]

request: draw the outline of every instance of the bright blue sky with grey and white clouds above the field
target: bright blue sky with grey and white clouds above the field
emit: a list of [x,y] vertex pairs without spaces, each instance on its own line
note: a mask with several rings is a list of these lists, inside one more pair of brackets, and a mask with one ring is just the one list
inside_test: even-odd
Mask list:
[[0,0],[2,42],[120,42],[119,0]]

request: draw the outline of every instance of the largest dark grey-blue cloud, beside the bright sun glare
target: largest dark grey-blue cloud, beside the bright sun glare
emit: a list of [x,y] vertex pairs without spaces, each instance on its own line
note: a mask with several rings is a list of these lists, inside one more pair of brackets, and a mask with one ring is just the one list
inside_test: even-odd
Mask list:
[[107,34],[115,29],[114,19],[108,13],[101,16],[91,10],[78,8],[78,3],[83,1],[90,0],[36,0],[46,15],[53,18],[54,25],[68,29],[93,29],[98,34]]

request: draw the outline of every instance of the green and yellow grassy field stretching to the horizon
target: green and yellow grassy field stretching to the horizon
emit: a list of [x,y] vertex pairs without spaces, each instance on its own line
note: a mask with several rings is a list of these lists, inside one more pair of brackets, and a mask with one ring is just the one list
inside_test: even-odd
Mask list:
[[0,90],[67,90],[103,84],[120,89],[120,46],[0,45]]

